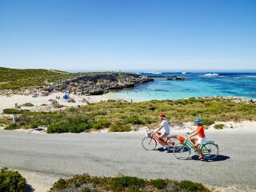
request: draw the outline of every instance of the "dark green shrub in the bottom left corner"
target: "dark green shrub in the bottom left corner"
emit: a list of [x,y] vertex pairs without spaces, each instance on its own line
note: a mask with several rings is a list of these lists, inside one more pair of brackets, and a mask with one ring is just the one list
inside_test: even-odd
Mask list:
[[2,192],[25,192],[26,179],[18,171],[0,170],[0,191]]

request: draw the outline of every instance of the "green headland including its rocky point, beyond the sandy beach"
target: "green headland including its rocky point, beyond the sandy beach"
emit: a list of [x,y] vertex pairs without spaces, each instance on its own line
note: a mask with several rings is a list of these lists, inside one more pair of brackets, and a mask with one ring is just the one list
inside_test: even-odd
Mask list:
[[152,78],[122,72],[69,73],[60,70],[18,70],[0,67],[0,90],[22,94],[24,90],[72,90],[81,94],[103,94],[106,90],[123,89]]

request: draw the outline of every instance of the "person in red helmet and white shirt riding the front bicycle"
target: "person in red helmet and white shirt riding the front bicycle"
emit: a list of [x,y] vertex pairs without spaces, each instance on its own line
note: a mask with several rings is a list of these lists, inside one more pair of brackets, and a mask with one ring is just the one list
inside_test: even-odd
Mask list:
[[[159,120],[161,121],[161,123],[155,128],[155,132],[160,135],[159,140],[166,145],[164,138],[166,138],[167,135],[170,134],[170,125],[166,121],[165,114],[160,114],[158,117],[159,117]],[[163,129],[163,131],[161,132],[160,130],[162,130],[162,129]]]

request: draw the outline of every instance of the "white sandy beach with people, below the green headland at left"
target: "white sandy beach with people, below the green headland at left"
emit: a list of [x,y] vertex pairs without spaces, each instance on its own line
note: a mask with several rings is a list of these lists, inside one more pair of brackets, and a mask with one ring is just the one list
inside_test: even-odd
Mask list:
[[[0,96],[0,113],[2,113],[2,110],[8,109],[8,108],[14,108],[15,103],[18,103],[18,106],[30,102],[34,105],[34,108],[37,106],[41,106],[42,104],[50,105],[50,99],[56,100],[60,105],[62,106],[84,106],[86,105],[85,102],[82,102],[82,99],[85,98],[87,102],[100,102],[105,101],[109,98],[106,97],[106,95],[95,95],[95,96],[82,96],[82,95],[74,95],[70,94],[70,98],[74,98],[75,102],[66,102],[63,99],[63,93],[53,93],[48,96],[38,96],[38,98],[32,98],[32,95],[19,95],[14,94],[10,97],[8,96]],[[60,99],[57,99],[56,97],[60,97]]]

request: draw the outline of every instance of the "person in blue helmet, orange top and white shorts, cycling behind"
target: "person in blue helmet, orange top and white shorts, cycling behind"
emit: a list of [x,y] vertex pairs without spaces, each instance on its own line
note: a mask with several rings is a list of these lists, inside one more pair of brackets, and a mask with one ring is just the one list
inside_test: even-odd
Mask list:
[[[202,119],[200,119],[200,118],[194,119],[194,125],[197,126],[197,128],[195,130],[189,132],[188,134],[192,134],[192,135],[190,135],[191,142],[194,143],[195,149],[198,150],[199,159],[201,160],[203,158],[203,154],[202,154],[202,151],[199,150],[198,146],[202,145],[204,142],[206,142],[205,131],[202,126]],[[198,137],[195,138],[194,137],[195,135],[198,135]]]

